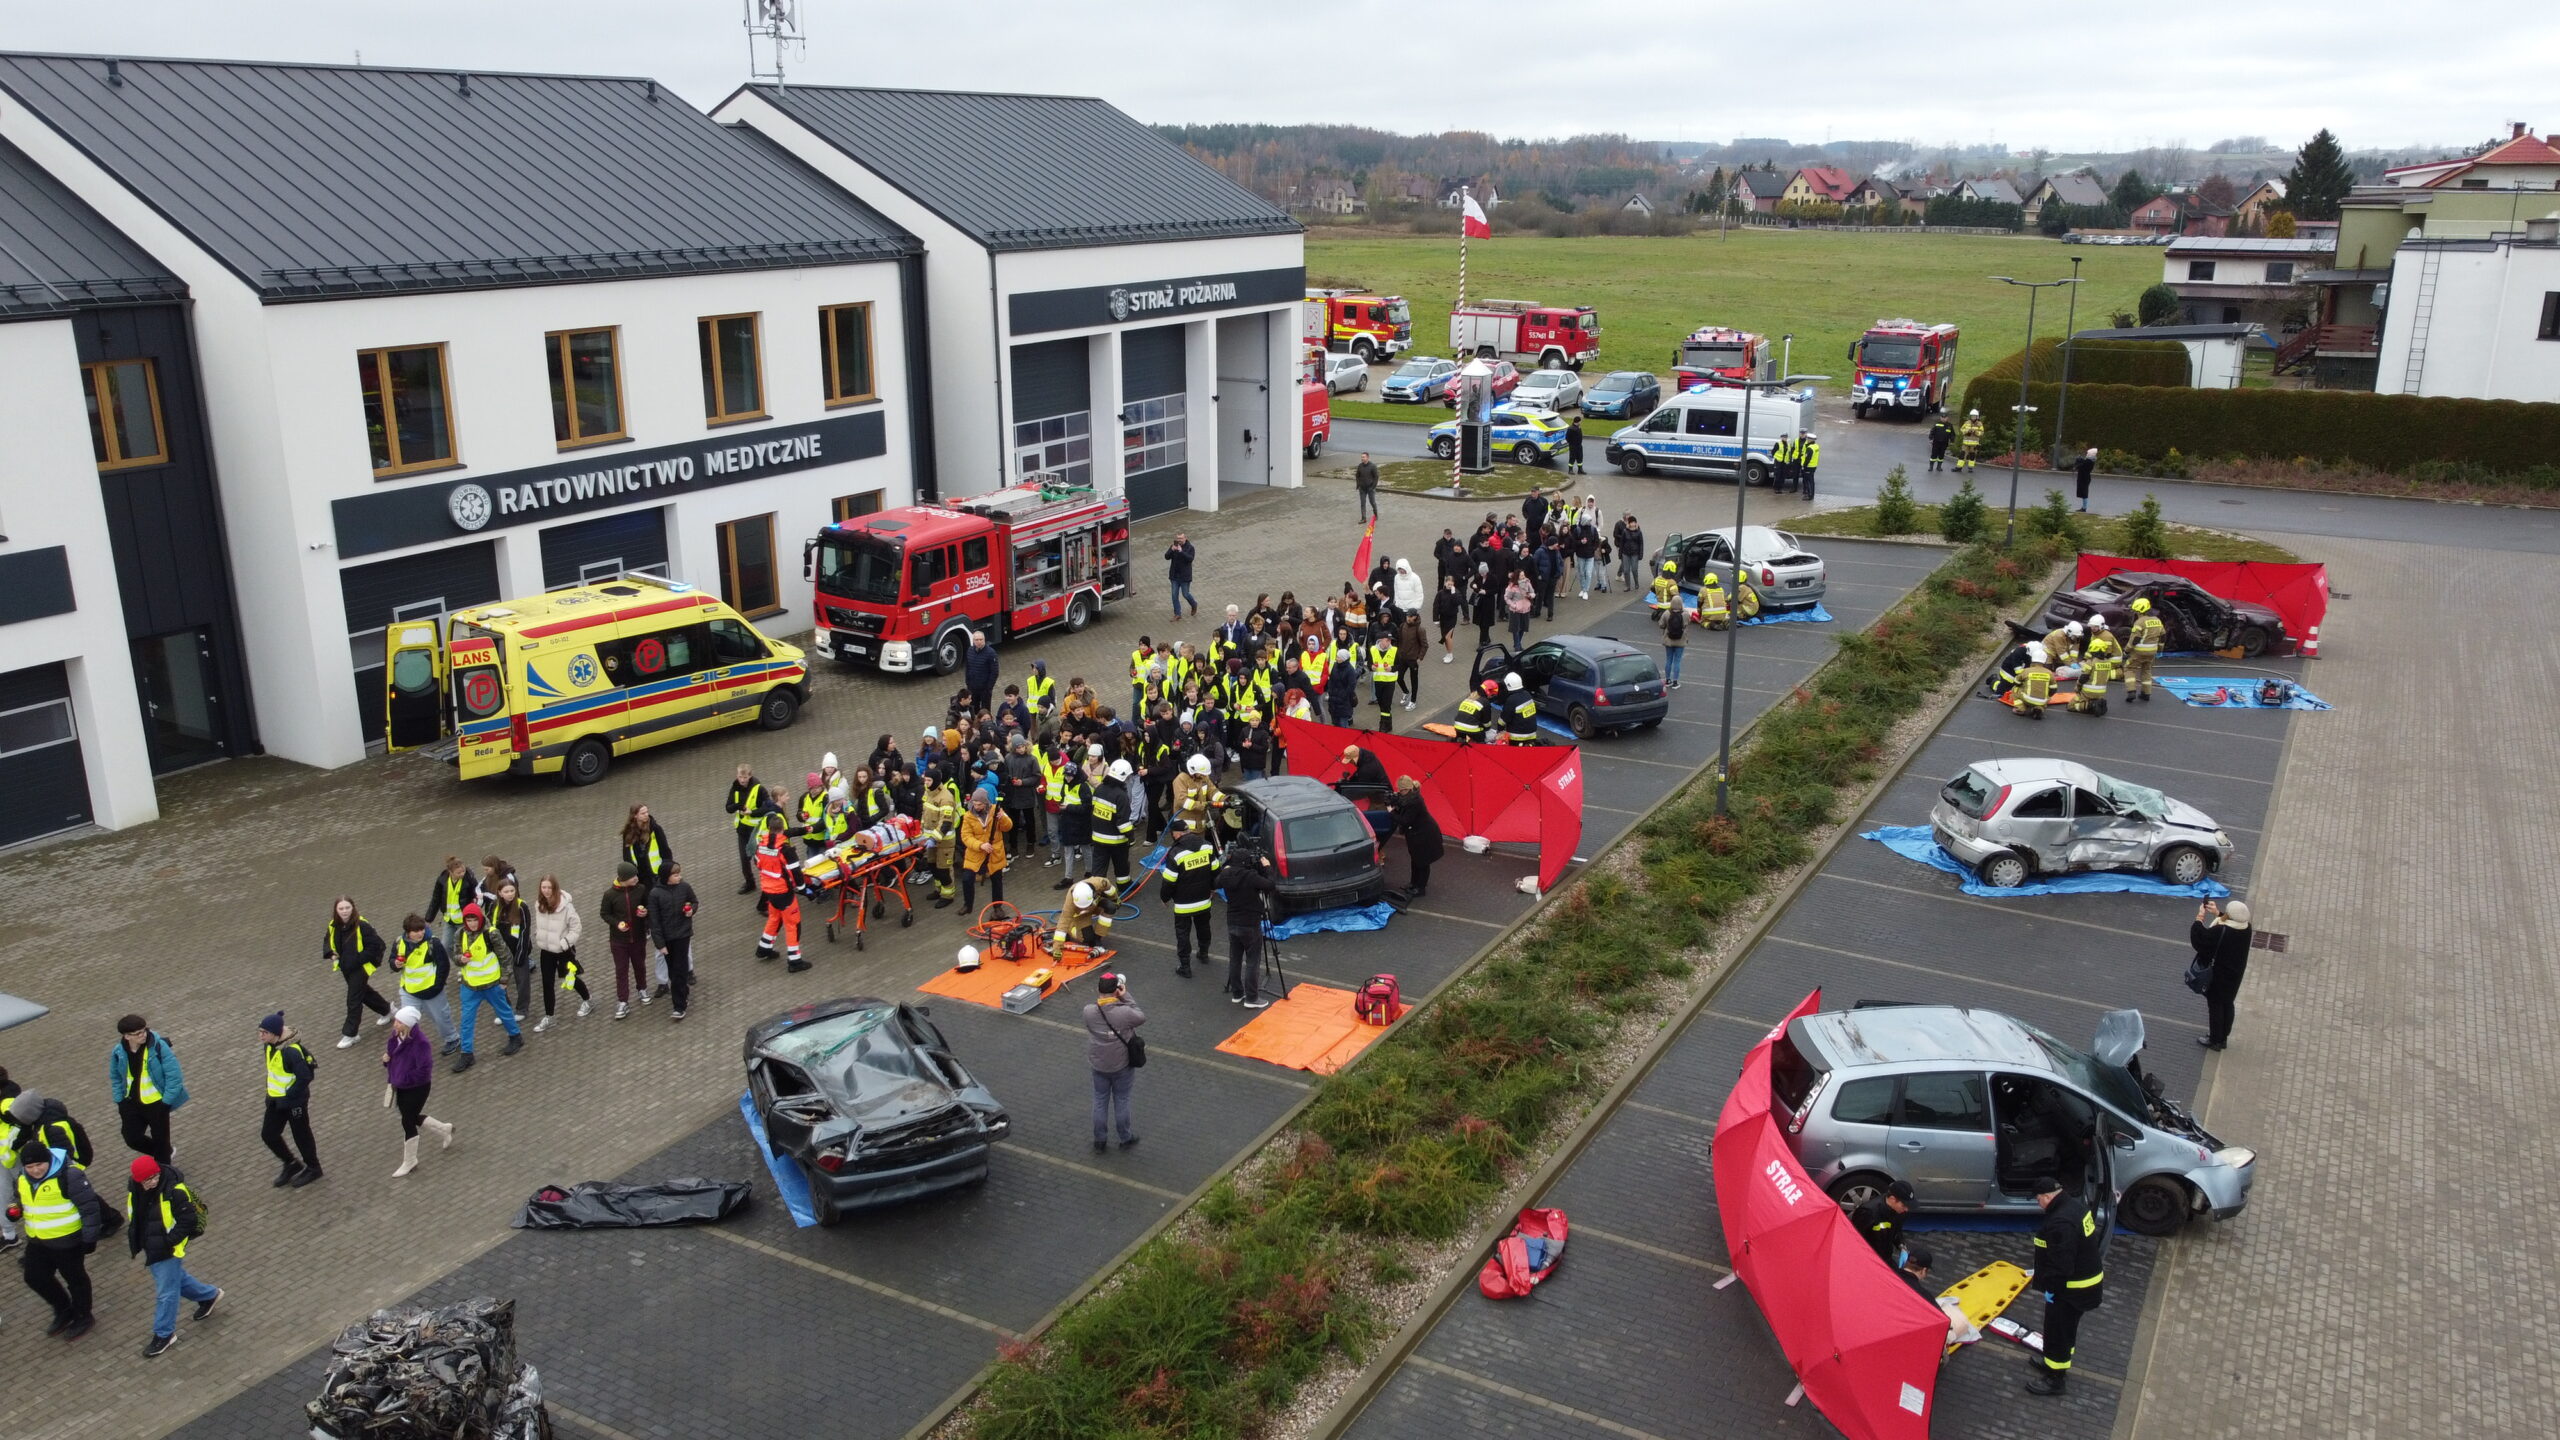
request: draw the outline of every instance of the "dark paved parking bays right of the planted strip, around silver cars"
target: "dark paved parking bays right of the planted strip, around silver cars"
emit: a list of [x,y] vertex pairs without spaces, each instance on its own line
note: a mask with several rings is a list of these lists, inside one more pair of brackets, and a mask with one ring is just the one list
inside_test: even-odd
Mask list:
[[[2217,661],[2163,664],[2171,674],[2212,669]],[[2268,669],[2291,674],[2299,661]],[[2117,700],[2107,717],[2056,712],[2035,725],[1974,697],[1876,797],[1859,830],[1928,822],[1938,787],[1971,761],[2063,756],[2220,820],[2240,840],[2222,879],[2248,894],[2289,723],[2304,720],[2322,717],[2194,710],[2161,697]],[[2145,1068],[2168,1094],[2191,1097],[2204,1058],[2194,1045],[2204,1033],[2202,1002],[2181,984],[2191,910],[2143,894],[1974,899],[1956,876],[1871,840],[1843,840],[1590,1150],[1536,1202],[1572,1217],[1574,1263],[1531,1302],[1462,1294],[1349,1432],[1357,1440],[1830,1435],[1810,1407],[1784,1404],[1795,1379],[1748,1294],[1713,1289],[1728,1273],[1728,1256],[1708,1143],[1743,1053],[1815,986],[1833,1007],[1900,999],[2004,1010],[2074,1043],[2089,1040],[2102,1012],[2135,1007],[2148,1033]],[[2025,1232],[1940,1230],[1928,1240],[1948,1281],[1992,1258],[2030,1263]],[[2076,1384],[2063,1402],[2022,1394],[2025,1353],[1984,1340],[1948,1361],[1930,1435],[2109,1435],[2158,1253],[2153,1240],[2117,1235],[2107,1304],[2081,1327]],[[2035,1309],[2022,1307],[2030,1325]]]

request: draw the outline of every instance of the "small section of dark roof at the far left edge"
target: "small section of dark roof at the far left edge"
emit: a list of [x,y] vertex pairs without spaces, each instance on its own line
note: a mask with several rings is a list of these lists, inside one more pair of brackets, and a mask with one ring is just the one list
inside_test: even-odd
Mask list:
[[0,320],[184,297],[187,282],[0,141]]

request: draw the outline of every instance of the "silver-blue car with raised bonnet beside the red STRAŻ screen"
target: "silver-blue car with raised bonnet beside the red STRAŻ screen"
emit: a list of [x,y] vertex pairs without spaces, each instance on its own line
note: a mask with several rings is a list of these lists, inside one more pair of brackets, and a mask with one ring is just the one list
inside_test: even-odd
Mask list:
[[2089,1053],[1994,1010],[1876,1004],[1792,1020],[1769,1092],[1805,1174],[1851,1209],[1907,1181],[1915,1209],[2033,1215],[2045,1176],[2099,1174],[2138,1235],[2240,1215],[2255,1150],[2196,1125],[2140,1053],[2138,1010],[2099,1017]]

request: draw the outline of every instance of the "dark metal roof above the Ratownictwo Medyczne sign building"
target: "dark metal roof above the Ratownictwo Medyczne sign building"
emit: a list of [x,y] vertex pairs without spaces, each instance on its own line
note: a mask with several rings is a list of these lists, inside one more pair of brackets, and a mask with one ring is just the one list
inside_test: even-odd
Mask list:
[[266,300],[916,249],[655,79],[0,54],[0,90]]

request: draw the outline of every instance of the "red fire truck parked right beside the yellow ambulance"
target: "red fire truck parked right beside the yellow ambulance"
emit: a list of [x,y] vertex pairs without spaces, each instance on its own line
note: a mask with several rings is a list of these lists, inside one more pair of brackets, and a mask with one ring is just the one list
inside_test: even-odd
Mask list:
[[973,628],[1006,641],[1083,630],[1129,594],[1129,502],[1039,482],[950,505],[855,515],[801,546],[817,582],[814,651],[952,674]]

